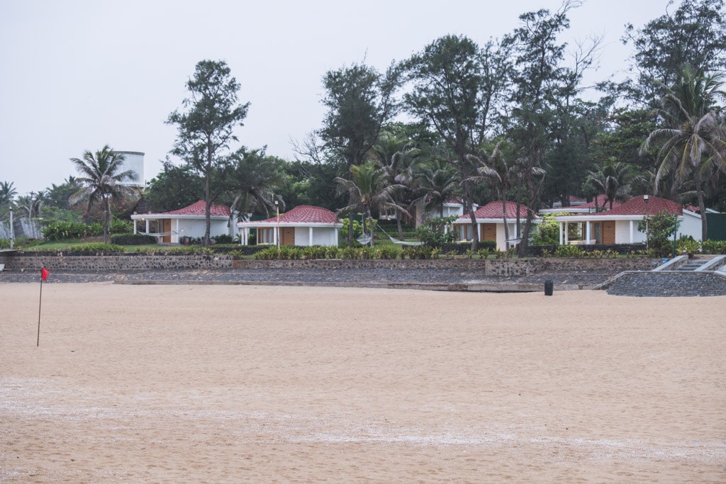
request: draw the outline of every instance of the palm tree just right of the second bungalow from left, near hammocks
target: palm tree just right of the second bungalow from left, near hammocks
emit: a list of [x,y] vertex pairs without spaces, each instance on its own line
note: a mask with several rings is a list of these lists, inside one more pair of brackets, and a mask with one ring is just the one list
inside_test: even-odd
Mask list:
[[[393,193],[403,189],[401,184],[388,184],[388,177],[383,169],[378,168],[375,162],[368,161],[363,165],[351,166],[351,179],[335,178],[338,184],[338,194],[348,193],[348,205],[338,210],[338,213],[355,213],[360,211],[364,215],[363,230],[365,221],[372,219],[371,209],[384,206],[398,210],[399,213],[407,213],[406,210],[396,205],[393,200]],[[371,236],[372,236],[372,227]],[[370,245],[373,246],[373,237],[370,238]]]

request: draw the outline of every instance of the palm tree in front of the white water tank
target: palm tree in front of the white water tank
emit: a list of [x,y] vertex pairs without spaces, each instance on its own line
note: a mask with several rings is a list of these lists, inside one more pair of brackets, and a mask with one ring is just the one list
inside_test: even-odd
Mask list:
[[131,192],[131,188],[123,185],[123,182],[135,181],[139,175],[132,170],[120,171],[123,168],[123,155],[114,152],[108,145],[97,151],[95,155],[86,151],[82,159],[71,158],[70,161],[76,165],[78,173],[81,173],[76,179],[81,189],[70,196],[69,202],[71,205],[76,205],[81,200],[86,200],[84,218],[88,218],[94,202],[104,202],[103,241],[108,242],[110,200]]

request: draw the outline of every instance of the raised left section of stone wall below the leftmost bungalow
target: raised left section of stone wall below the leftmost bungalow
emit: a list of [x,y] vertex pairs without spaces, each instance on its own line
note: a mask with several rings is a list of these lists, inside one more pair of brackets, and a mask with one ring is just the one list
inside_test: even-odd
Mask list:
[[150,271],[158,269],[229,269],[232,255],[192,253],[113,253],[63,255],[62,253],[15,253],[0,256],[9,271]]

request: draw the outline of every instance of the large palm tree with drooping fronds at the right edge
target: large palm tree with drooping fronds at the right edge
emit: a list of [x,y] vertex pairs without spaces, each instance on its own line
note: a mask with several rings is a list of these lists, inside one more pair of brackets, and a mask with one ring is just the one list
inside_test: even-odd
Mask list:
[[678,186],[693,178],[701,210],[701,237],[708,237],[706,206],[703,203],[704,164],[714,165],[726,171],[726,130],[719,123],[716,109],[718,97],[725,97],[720,90],[723,75],[694,72],[683,67],[675,86],[666,89],[658,112],[668,128],[659,128],[648,135],[640,147],[645,153],[651,144],[663,140],[657,159],[656,190],[660,181],[672,176]]

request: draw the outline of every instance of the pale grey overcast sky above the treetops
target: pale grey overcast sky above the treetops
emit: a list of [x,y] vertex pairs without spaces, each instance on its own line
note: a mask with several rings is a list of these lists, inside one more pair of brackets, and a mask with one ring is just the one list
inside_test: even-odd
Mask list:
[[[164,123],[203,59],[226,60],[249,101],[237,135],[293,158],[319,128],[321,78],[365,59],[379,70],[449,33],[484,44],[518,16],[558,0],[0,0],[0,181],[18,194],[76,175],[69,158],[104,144],[145,153],[144,179],[176,136]],[[619,39],[666,12],[666,0],[588,0],[562,40],[604,38],[595,82],[627,68]],[[672,7],[674,9],[675,7]]]

